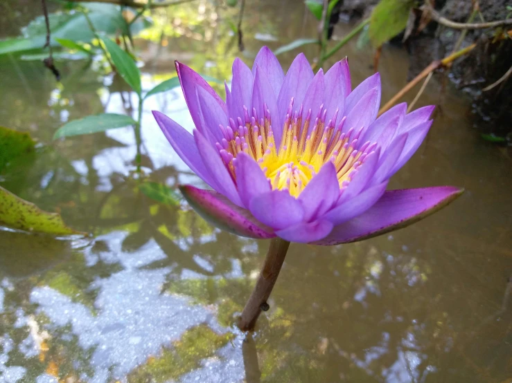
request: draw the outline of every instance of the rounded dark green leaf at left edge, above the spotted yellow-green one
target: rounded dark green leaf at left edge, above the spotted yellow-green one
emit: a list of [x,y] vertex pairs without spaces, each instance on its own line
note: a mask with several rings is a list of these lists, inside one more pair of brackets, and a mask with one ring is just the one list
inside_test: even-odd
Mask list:
[[34,144],[28,133],[0,127],[0,173],[13,160],[32,155]]

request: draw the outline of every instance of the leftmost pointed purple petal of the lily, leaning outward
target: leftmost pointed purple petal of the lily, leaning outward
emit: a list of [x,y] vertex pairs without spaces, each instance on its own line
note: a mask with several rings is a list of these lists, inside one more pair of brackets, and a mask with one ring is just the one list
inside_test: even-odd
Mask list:
[[164,135],[169,141],[170,146],[173,147],[179,158],[181,158],[197,176],[200,176],[205,183],[215,189],[217,184],[211,177],[208,169],[204,166],[191,133],[188,133],[181,125],[168,118],[164,113],[153,111],[153,115],[160,129],[164,132]]

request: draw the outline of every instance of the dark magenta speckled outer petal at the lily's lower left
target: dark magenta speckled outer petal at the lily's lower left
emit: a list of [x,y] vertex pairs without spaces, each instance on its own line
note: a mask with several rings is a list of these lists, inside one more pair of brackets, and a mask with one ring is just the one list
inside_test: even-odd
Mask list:
[[200,216],[222,230],[256,239],[276,236],[270,227],[258,222],[248,210],[233,205],[222,194],[190,185],[179,189]]

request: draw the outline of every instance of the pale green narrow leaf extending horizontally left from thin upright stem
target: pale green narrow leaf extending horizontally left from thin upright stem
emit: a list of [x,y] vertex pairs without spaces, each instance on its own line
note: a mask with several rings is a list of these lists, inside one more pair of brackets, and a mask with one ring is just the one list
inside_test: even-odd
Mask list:
[[123,128],[134,124],[136,124],[136,122],[130,116],[124,114],[103,113],[88,115],[80,120],[73,120],[64,124],[55,132],[53,140],[62,137],[98,133],[100,131]]

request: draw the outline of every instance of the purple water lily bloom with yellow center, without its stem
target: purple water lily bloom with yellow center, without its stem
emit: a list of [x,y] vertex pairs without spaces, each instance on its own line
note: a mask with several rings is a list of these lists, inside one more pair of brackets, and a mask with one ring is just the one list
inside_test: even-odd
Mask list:
[[457,187],[386,191],[432,124],[433,106],[398,104],[377,118],[378,73],[351,89],[346,59],[316,75],[304,55],[288,73],[263,47],[252,70],[233,62],[226,102],[177,63],[196,129],[155,118],[178,155],[213,190],[181,187],[218,227],[257,239],[335,245],[416,222]]

